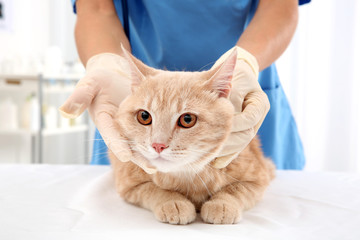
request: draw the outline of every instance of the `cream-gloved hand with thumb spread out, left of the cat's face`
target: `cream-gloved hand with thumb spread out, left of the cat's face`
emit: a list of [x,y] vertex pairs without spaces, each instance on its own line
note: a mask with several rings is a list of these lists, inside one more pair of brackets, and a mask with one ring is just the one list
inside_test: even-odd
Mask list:
[[127,140],[116,129],[115,114],[131,92],[131,73],[124,56],[102,53],[89,59],[86,74],[60,107],[63,117],[76,118],[88,108],[108,148],[123,162],[132,160],[147,173],[156,169],[146,159],[134,158]]

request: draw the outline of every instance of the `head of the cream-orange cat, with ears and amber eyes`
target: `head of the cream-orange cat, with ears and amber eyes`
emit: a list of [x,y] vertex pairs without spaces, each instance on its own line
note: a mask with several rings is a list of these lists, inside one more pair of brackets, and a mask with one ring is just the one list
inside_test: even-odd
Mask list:
[[134,156],[160,172],[198,172],[213,160],[228,137],[234,109],[228,99],[236,51],[203,72],[150,68],[125,54],[132,94],[117,120]]

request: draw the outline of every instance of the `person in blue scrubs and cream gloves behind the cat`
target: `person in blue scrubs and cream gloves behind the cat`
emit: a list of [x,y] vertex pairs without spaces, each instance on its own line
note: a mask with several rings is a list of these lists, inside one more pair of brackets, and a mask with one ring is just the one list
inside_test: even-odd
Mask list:
[[[121,71],[110,71],[117,67],[116,56],[103,53],[120,55],[122,44],[151,67],[200,71],[237,45],[241,61],[254,69],[252,76],[244,74],[243,85],[256,86],[258,80],[262,90],[255,87],[245,98],[232,101],[243,128],[234,127],[224,149],[234,141],[239,143],[236,148],[246,147],[262,123],[258,134],[265,155],[278,169],[302,169],[303,147],[274,61],[294,34],[298,4],[309,1],[73,0],[76,44],[86,76],[60,110],[73,118],[89,108],[101,133],[96,132],[92,163],[108,164],[107,146],[114,150],[125,144],[116,135],[113,117],[129,92],[119,80]],[[263,91],[271,106],[267,115]],[[107,146],[98,140],[101,136]]]

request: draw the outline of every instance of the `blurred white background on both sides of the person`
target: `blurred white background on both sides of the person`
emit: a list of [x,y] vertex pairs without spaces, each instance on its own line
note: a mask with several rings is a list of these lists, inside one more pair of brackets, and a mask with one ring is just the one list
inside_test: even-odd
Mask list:
[[[360,2],[301,6],[277,61],[306,170],[360,173]],[[0,163],[87,164],[94,126],[57,108],[84,73],[70,0],[0,0]]]

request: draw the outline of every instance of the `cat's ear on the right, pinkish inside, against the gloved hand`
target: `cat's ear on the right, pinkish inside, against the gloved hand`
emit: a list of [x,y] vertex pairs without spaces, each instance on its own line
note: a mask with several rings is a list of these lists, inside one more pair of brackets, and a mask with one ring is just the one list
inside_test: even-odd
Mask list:
[[219,94],[219,97],[227,98],[231,90],[231,80],[233,78],[237,60],[236,49],[219,66],[209,70],[211,88]]

